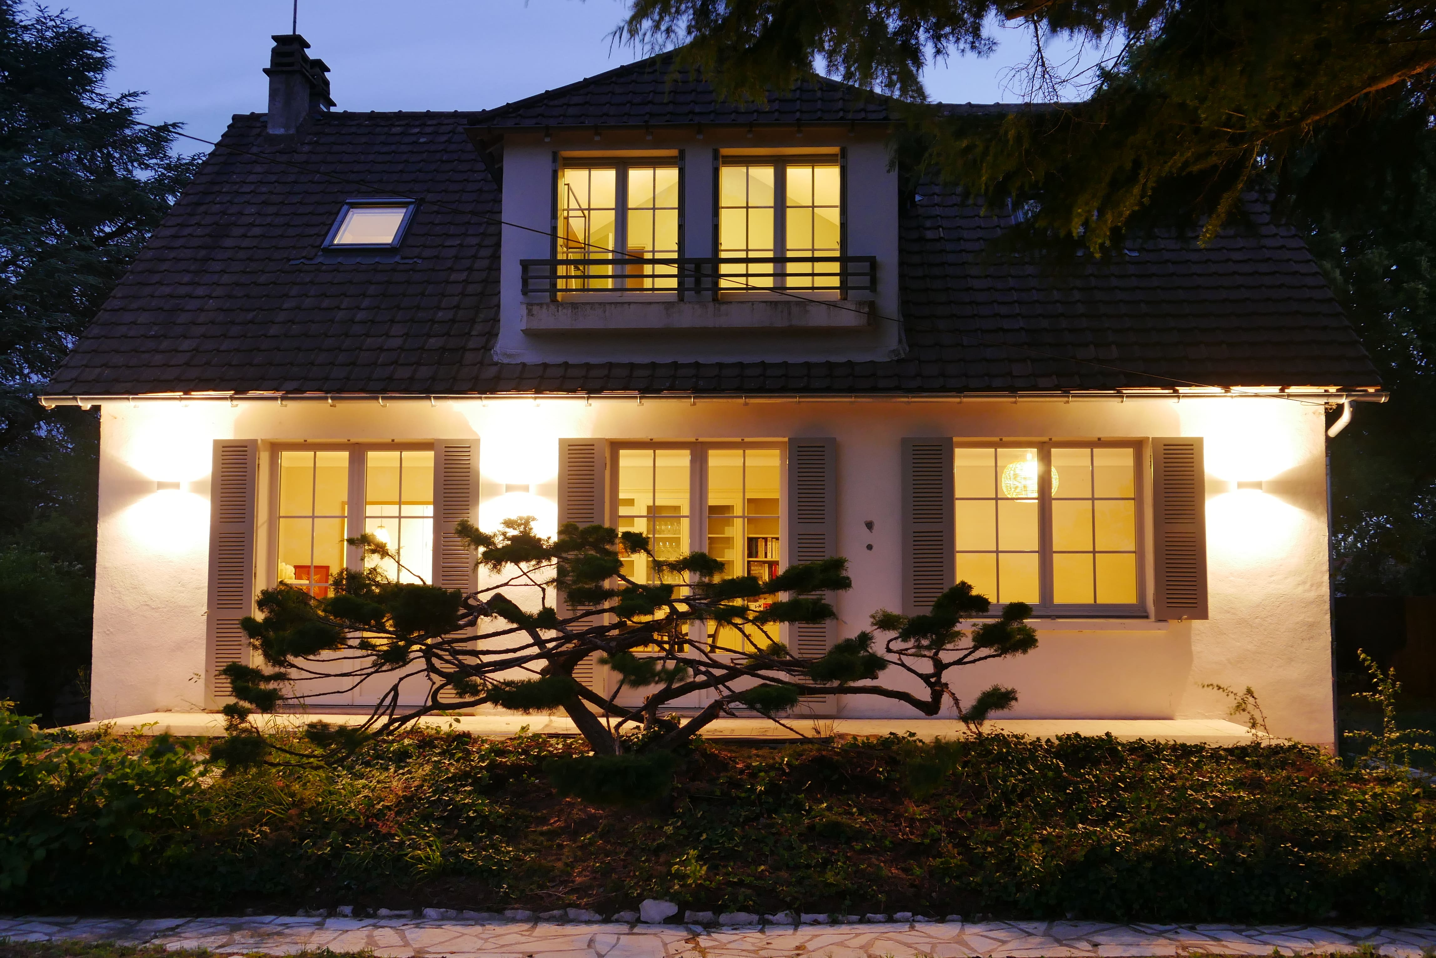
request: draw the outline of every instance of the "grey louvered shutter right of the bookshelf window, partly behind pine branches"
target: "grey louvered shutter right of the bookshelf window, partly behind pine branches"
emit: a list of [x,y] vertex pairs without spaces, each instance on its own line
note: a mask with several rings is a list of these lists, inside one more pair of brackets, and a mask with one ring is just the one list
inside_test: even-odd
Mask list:
[[[788,440],[788,562],[837,554],[837,440]],[[833,593],[826,593],[829,602]],[[819,658],[837,641],[837,622],[790,626],[793,652]]]

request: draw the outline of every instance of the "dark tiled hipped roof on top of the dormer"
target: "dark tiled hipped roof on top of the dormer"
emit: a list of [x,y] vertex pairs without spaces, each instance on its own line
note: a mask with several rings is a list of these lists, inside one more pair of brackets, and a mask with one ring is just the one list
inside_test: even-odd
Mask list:
[[820,76],[763,102],[719,98],[671,56],[629,63],[474,116],[475,126],[887,122],[887,98]]

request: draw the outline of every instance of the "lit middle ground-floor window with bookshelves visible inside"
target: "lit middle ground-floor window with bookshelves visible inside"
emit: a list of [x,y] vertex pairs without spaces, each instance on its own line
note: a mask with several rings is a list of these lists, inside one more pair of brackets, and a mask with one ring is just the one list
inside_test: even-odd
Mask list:
[[[783,553],[783,450],[721,444],[619,447],[615,452],[619,531],[649,536],[658,559],[695,549],[724,563],[719,577],[771,579],[787,564]],[[705,547],[696,543],[705,543]],[[638,582],[658,582],[646,556],[623,559]],[[765,606],[771,597],[755,600]],[[740,636],[711,641],[737,649]]]

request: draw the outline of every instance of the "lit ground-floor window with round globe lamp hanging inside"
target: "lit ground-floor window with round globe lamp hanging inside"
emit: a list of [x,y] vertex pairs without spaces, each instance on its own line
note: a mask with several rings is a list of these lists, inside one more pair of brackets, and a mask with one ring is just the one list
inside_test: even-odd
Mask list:
[[1134,444],[958,445],[956,577],[997,603],[1142,610]]

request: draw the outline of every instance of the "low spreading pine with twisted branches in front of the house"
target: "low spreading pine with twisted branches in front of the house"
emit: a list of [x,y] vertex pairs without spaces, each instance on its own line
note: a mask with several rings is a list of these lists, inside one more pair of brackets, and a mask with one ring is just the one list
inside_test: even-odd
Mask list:
[[[587,789],[596,801],[623,804],[661,797],[665,787],[655,783],[672,771],[666,757],[633,755],[686,748],[714,720],[738,710],[781,721],[804,695],[860,695],[923,715],[949,710],[981,721],[1010,708],[1017,692],[994,687],[965,707],[952,688],[954,669],[1037,645],[1022,603],[964,628],[991,612],[988,599],[964,582],[926,615],[879,610],[872,631],[804,658],[784,645],[783,628],[836,618],[824,596],[852,587],[844,559],[788,566],[760,582],[721,577],[722,563],[701,552],[659,559],[645,536],[605,526],[569,524],[546,539],[524,516],[494,533],[460,523],[457,534],[491,577],[470,595],[392,582],[373,566],[340,572],[325,596],[289,586],[261,592],[260,616],[243,623],[261,665],[225,666],[237,701],[224,710],[230,738],[213,754],[231,768],[339,761],[372,735],[425,715],[563,712],[595,758],[582,774],[576,766],[556,766],[556,780],[573,794]],[[352,541],[373,559],[398,562],[372,536]],[[625,559],[635,554],[658,570],[658,582],[625,573]],[[574,678],[586,661],[610,669],[607,692]],[[885,681],[892,675],[900,682]],[[303,705],[312,687],[332,691],[336,684],[379,689],[369,720],[348,733],[314,725],[294,747],[270,741],[251,718],[256,710]],[[418,702],[415,689],[422,692]],[[640,695],[640,704],[622,702],[626,691]],[[698,698],[695,712],[675,714]]]

